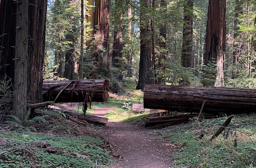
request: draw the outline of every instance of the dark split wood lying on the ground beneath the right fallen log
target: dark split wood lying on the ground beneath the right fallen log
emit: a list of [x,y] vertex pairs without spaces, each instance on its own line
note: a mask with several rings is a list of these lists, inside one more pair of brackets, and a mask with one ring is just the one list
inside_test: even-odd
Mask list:
[[[185,114],[177,116],[157,116],[157,117],[147,117],[145,127],[159,128],[164,126],[170,126],[179,124],[182,122],[188,122],[190,118],[196,117],[197,114]],[[207,115],[204,118],[214,118],[216,115]]]

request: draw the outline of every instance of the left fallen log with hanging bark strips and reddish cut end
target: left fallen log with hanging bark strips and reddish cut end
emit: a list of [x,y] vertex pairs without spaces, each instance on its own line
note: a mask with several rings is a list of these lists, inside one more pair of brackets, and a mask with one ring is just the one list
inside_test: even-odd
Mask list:
[[106,102],[108,91],[107,79],[43,81],[42,89],[44,101],[54,102],[84,102],[86,94],[92,102]]

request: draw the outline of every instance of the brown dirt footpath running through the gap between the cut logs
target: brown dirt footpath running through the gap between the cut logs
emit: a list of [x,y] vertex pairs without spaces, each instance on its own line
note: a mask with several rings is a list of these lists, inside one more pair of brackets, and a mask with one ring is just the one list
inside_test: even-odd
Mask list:
[[[93,115],[104,116],[113,106],[96,108]],[[111,168],[172,168],[172,151],[175,146],[156,139],[154,130],[134,124],[109,120],[104,127],[108,141],[117,154],[124,158]]]

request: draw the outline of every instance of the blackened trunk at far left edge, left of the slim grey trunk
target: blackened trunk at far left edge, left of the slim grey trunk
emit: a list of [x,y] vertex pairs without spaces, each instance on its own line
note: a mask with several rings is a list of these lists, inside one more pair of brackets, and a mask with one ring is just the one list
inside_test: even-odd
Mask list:
[[16,5],[11,0],[0,3],[0,77],[14,80]]

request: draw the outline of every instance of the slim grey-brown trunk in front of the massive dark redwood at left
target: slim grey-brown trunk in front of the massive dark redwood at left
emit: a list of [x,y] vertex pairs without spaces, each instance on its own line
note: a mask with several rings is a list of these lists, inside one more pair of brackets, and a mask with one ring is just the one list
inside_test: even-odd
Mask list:
[[[10,21],[10,20],[9,20]],[[27,108],[28,86],[28,0],[17,4],[14,96],[12,110],[23,121]]]

